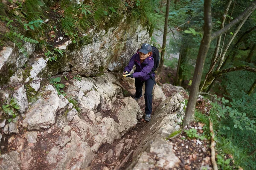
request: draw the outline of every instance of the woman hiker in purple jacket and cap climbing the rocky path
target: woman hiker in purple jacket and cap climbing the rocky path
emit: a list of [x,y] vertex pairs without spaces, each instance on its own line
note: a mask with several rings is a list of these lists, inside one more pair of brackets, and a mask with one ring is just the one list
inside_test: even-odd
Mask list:
[[[133,74],[130,74],[133,66],[136,66],[136,70]],[[142,97],[142,87],[145,82],[145,121],[149,122],[151,119],[152,112],[152,90],[154,87],[155,75],[151,72],[154,67],[154,59],[152,57],[152,47],[151,45],[144,43],[141,48],[135,53],[129,64],[125,67],[123,77],[134,77],[136,95],[135,100],[137,101]]]

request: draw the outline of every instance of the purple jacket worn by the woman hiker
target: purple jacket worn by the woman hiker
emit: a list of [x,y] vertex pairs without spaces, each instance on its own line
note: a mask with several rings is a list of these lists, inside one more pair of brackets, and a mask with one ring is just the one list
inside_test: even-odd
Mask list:
[[[124,72],[128,71],[130,73],[133,66],[136,66],[136,70],[134,71],[133,77],[140,78],[141,81],[146,81],[150,78],[149,73],[151,72],[152,68],[154,67],[154,58],[152,56],[147,57],[143,63],[140,63],[140,54],[139,52],[135,53],[130,61],[129,64],[125,67]],[[154,74],[151,74],[154,76]]]

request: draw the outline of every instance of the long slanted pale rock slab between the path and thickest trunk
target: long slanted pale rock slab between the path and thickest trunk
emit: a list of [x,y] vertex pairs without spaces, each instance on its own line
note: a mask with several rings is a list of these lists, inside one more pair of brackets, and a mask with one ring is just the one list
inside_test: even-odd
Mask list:
[[165,138],[175,130],[185,114],[183,101],[180,94],[174,94],[160,103],[151,121],[143,127],[145,134],[138,136],[142,140],[134,151],[135,161],[128,170],[171,169],[180,162],[172,151],[172,144]]

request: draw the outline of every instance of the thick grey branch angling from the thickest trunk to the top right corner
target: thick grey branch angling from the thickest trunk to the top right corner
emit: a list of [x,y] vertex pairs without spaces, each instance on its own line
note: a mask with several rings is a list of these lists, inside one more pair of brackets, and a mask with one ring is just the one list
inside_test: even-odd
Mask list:
[[212,40],[214,40],[215,38],[219,37],[220,35],[224,34],[225,32],[227,32],[232,26],[236,25],[237,23],[239,23],[240,20],[242,20],[254,7],[256,6],[256,0],[254,0],[250,6],[248,6],[244,12],[242,14],[240,14],[238,17],[236,17],[232,22],[230,22],[229,24],[227,24],[227,26],[225,26],[224,28],[222,28],[219,31],[216,31],[215,33],[212,34]]

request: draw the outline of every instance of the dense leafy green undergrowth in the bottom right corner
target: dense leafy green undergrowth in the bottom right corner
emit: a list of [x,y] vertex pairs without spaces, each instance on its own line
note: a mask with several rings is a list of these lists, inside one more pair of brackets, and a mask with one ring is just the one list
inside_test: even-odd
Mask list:
[[[227,153],[241,150],[234,156],[237,164],[244,169],[256,167],[255,161],[253,161],[255,158],[250,155],[256,150],[256,141],[254,140],[256,139],[256,94],[251,96],[244,94],[241,99],[232,99],[232,102],[225,98],[218,99],[218,101],[221,104],[212,103],[210,111],[214,127],[218,131],[218,139],[228,140]],[[225,145],[227,142],[223,142],[223,144]],[[223,163],[223,161],[221,162]]]

